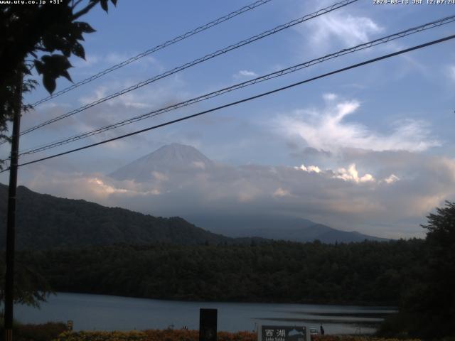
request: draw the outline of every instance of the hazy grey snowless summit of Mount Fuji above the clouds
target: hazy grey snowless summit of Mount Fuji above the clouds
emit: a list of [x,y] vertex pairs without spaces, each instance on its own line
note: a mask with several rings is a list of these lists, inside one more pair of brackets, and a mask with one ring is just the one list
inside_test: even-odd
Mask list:
[[144,182],[151,180],[154,177],[154,172],[203,171],[213,165],[213,161],[193,146],[174,143],[162,146],[153,153],[128,163],[110,173],[109,177],[117,180]]

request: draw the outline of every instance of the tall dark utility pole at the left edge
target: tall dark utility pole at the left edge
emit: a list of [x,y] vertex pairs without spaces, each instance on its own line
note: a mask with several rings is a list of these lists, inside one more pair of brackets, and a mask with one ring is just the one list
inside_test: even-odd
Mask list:
[[6,274],[5,274],[5,341],[13,340],[14,305],[14,244],[16,238],[16,187],[19,135],[21,126],[23,74],[17,71],[17,85],[11,134],[11,159],[9,164],[8,215],[6,217]]

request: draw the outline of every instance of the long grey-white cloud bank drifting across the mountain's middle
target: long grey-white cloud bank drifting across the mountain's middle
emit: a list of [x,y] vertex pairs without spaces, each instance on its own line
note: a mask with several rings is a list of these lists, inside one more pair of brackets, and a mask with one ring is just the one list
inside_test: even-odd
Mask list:
[[42,163],[23,172],[32,190],[161,216],[304,217],[382,237],[422,235],[419,224],[455,199],[455,160],[409,151],[345,149],[346,166],[228,166],[155,171],[144,183]]

